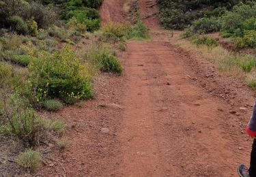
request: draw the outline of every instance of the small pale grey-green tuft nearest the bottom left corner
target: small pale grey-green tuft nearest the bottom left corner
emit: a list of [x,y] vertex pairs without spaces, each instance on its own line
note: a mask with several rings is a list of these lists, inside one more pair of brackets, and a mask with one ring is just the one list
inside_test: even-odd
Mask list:
[[18,165],[23,167],[25,170],[33,170],[40,165],[42,157],[39,152],[32,150],[31,148],[26,149],[25,152],[20,153],[16,159]]

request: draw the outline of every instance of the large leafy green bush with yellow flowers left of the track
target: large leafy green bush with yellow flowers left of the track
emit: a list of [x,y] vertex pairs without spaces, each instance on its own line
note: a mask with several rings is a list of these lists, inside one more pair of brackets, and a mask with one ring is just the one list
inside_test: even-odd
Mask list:
[[32,60],[29,70],[29,88],[35,91],[35,102],[58,98],[67,103],[68,99],[88,99],[93,95],[88,72],[68,47],[53,55],[41,53]]

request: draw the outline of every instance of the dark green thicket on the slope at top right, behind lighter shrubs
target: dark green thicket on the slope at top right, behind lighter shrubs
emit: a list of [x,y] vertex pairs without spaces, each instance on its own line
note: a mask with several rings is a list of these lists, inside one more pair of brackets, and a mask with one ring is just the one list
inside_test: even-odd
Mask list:
[[223,13],[223,10],[230,10],[233,5],[238,3],[240,3],[238,0],[158,0],[160,22],[165,28],[184,29],[187,25],[191,25],[193,20],[219,16]]

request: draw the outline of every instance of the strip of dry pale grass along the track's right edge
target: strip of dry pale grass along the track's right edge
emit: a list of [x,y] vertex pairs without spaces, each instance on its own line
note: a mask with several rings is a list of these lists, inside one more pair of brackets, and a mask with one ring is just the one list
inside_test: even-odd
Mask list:
[[[210,37],[208,37],[209,39]],[[256,88],[256,69],[255,69],[255,55],[254,54],[239,54],[231,53],[221,46],[214,45],[209,50],[210,44],[201,42],[202,37],[190,37],[189,40],[179,39],[175,44],[186,50],[199,52],[201,56],[208,59],[219,71],[225,74],[236,76],[251,86]],[[213,39],[210,39],[211,41]],[[214,42],[215,44],[215,42]]]

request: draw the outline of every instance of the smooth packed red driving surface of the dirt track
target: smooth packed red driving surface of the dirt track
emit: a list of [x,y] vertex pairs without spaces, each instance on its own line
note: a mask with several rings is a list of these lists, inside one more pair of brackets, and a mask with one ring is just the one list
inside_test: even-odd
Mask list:
[[236,174],[246,155],[220,111],[227,103],[193,84],[166,42],[128,42],[127,56],[121,176]]

